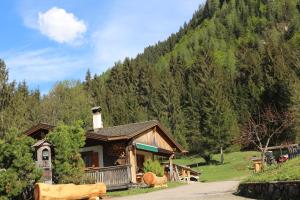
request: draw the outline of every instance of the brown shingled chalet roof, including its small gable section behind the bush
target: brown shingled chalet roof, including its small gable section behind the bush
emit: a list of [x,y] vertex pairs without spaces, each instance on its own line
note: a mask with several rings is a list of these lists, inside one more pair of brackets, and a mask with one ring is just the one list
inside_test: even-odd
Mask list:
[[[97,130],[89,130],[86,132],[86,138],[95,139],[100,141],[115,141],[115,140],[128,140],[135,137],[138,137],[140,134],[143,134],[145,131],[153,128],[158,127],[162,130],[162,132],[167,136],[167,139],[174,144],[174,146],[180,151],[185,152],[183,147],[178,144],[172,136],[168,134],[166,129],[159,123],[157,120],[150,120],[145,122],[139,123],[130,123],[124,124],[119,126],[112,126],[112,127],[104,127]],[[55,126],[46,124],[46,123],[39,123],[36,126],[33,126],[29,130],[25,131],[26,135],[33,135],[38,130],[48,130],[51,131]]]

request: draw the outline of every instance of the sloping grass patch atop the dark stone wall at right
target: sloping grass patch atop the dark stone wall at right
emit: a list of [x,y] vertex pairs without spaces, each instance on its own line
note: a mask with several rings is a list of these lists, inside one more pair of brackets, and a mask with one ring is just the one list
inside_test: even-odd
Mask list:
[[245,182],[269,182],[300,180],[300,157],[270,166],[260,173],[253,173]]

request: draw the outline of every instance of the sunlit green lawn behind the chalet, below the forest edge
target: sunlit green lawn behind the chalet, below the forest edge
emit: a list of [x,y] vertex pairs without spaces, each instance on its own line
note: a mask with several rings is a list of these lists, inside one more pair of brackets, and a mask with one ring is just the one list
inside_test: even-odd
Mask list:
[[[252,173],[252,171],[249,170],[249,166],[252,166],[251,158],[254,155],[260,156],[260,153],[256,151],[227,153],[224,154],[225,162],[223,165],[205,165],[204,160],[195,155],[175,159],[174,163],[179,165],[199,163],[198,167],[193,167],[193,169],[201,172],[200,181],[202,182],[240,180]],[[214,155],[213,160],[219,161],[220,154]]]

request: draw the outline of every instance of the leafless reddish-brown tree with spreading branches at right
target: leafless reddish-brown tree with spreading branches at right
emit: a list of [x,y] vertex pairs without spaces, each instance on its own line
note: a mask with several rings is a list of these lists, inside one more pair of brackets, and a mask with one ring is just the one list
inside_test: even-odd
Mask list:
[[264,164],[265,153],[271,139],[282,134],[292,125],[294,117],[291,112],[279,112],[272,106],[266,106],[256,116],[251,116],[241,129],[241,142],[245,145],[253,144],[261,151]]

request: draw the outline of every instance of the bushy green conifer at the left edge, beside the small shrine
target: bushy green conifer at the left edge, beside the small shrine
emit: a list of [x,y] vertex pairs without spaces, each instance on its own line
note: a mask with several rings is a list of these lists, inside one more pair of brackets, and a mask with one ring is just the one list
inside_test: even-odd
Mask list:
[[[41,172],[33,160],[34,141],[16,129],[8,130],[0,139],[0,198],[28,199]],[[27,193],[27,195],[31,193]]]

